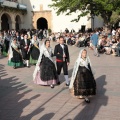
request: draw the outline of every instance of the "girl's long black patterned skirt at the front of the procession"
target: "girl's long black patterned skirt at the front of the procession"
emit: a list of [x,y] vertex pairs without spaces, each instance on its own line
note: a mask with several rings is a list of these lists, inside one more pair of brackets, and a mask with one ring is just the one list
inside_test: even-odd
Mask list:
[[74,82],[75,96],[89,96],[96,94],[96,82],[91,70],[79,66]]

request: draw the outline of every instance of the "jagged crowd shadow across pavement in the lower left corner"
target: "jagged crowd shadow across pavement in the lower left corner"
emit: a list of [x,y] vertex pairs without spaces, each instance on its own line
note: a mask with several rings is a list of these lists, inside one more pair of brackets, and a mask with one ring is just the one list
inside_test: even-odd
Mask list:
[[[32,117],[45,110],[44,105],[57,97],[62,91],[68,89],[67,87],[62,87],[57,93],[46,99],[42,105],[38,105],[33,111],[29,111],[30,107],[32,107],[31,102],[35,102],[40,97],[40,94],[36,93],[33,95],[32,89],[29,89],[16,76],[8,77],[5,66],[2,64],[0,64],[0,78],[0,120],[31,120]],[[26,97],[28,94],[29,96]],[[29,112],[24,115],[26,111]],[[54,115],[55,113],[47,113],[39,119],[51,119]]]

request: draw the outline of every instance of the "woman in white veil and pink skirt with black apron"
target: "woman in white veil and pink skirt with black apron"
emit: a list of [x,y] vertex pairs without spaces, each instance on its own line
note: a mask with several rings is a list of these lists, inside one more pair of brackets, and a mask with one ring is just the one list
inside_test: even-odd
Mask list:
[[50,41],[46,40],[41,46],[40,56],[33,73],[34,83],[45,86],[50,85],[51,88],[54,88],[54,85],[57,84],[58,76],[52,56]]

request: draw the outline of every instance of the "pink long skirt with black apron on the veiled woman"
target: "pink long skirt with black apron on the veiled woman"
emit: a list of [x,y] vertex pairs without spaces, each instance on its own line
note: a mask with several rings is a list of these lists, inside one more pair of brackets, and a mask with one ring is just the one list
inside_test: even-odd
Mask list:
[[58,82],[58,76],[55,64],[47,57],[42,60],[40,71],[37,72],[34,83],[40,85],[55,85]]

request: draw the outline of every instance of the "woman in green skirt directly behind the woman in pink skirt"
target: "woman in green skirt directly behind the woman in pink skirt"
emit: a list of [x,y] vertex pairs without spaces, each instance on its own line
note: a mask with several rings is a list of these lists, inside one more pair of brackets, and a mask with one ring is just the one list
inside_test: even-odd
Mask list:
[[40,55],[40,41],[37,39],[37,36],[34,35],[33,39],[31,41],[31,51],[30,51],[30,63],[35,64],[37,63],[37,60]]

